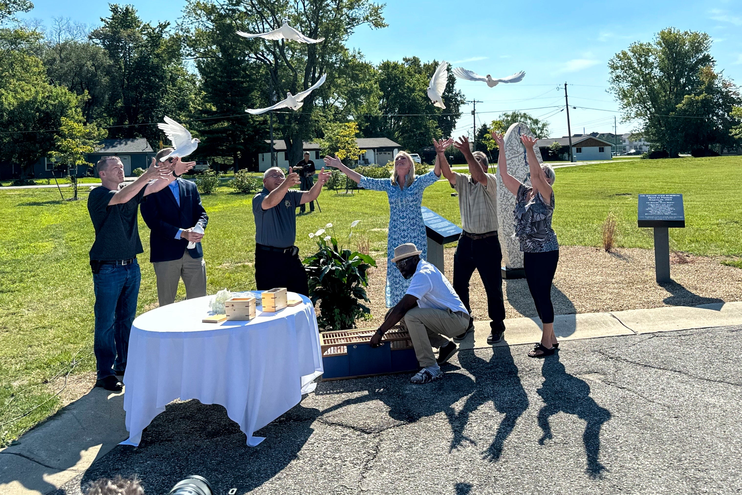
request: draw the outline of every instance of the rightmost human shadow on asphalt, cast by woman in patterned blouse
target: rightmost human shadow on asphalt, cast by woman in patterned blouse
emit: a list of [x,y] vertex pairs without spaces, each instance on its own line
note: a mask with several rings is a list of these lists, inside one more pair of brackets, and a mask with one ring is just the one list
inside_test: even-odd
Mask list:
[[545,404],[538,414],[539,427],[543,430],[539,444],[544,445],[546,440],[554,438],[551,424],[549,424],[551,416],[560,412],[574,414],[587,422],[585,433],[582,433],[588,464],[585,471],[591,478],[599,478],[608,469],[600,464],[598,455],[600,453],[600,428],[603,423],[611,419],[610,411],[600,407],[590,397],[590,385],[587,382],[566,372],[564,364],[559,361],[558,354],[544,358],[541,374],[545,378],[544,383],[536,390],[536,393],[541,396]]

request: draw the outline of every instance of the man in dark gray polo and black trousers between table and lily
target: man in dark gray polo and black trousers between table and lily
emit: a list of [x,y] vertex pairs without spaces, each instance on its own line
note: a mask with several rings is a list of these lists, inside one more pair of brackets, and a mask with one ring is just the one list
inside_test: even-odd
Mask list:
[[289,190],[300,183],[299,174],[289,167],[272,167],[263,174],[263,191],[252,198],[255,216],[255,284],[257,290],[286,287],[291,292],[309,296],[304,266],[296,241],[296,209],[320,195],[330,172],[324,168],[309,191]]

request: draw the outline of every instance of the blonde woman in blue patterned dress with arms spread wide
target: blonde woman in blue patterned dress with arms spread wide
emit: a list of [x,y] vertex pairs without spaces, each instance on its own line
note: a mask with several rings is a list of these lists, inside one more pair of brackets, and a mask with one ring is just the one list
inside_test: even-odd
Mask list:
[[[449,143],[450,144],[450,143]],[[394,248],[404,243],[414,243],[422,251],[420,258],[427,259],[427,235],[422,220],[420,206],[422,192],[441,177],[441,168],[436,158],[436,166],[427,174],[415,176],[415,161],[407,151],[400,151],[394,157],[394,171],[389,179],[370,179],[343,165],[334,157],[325,157],[329,167],[339,168],[363,189],[386,191],[389,197],[389,234],[387,235],[387,308],[397,304],[410,281],[405,280],[392,263]]]

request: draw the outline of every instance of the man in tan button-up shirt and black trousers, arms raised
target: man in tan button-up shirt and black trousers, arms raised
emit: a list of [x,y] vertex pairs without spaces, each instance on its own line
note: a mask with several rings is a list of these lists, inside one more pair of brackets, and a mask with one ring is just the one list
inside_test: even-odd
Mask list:
[[[488,344],[502,340],[505,332],[505,302],[502,298],[502,251],[497,237],[497,182],[494,174],[487,173],[487,156],[481,151],[472,153],[469,140],[462,137],[453,145],[462,151],[469,165],[470,176],[451,170],[446,160],[444,141],[433,141],[436,148],[436,160],[441,165],[441,172],[451,187],[459,193],[459,208],[462,215],[462,232],[459,246],[453,257],[453,289],[461,298],[471,315],[469,304],[469,281],[474,270],[485,284],[487,292],[487,314],[490,319],[491,335]],[[454,340],[463,340],[467,333],[474,330],[473,318],[469,328]]]

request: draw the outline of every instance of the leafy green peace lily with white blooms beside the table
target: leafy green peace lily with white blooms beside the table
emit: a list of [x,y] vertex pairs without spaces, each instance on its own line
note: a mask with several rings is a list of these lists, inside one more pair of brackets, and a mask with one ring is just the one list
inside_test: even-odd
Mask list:
[[[361,220],[350,224],[348,246],[353,228]],[[366,294],[368,269],[376,266],[369,255],[351,251],[338,244],[335,229],[328,223],[324,229],[309,234],[317,242],[318,251],[304,258],[304,269],[309,278],[309,297],[319,301],[317,323],[321,331],[355,328],[357,319],[370,320],[371,310],[361,301],[370,301]],[[328,235],[325,235],[325,234]]]

